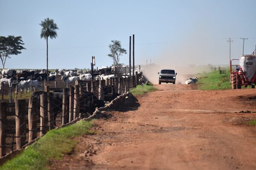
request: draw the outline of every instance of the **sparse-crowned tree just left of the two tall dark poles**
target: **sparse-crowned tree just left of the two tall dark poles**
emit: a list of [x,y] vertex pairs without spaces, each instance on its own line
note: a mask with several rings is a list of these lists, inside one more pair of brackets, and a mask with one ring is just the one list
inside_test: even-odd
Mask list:
[[122,54],[127,54],[126,50],[122,48],[121,42],[118,40],[112,40],[112,44],[108,45],[110,54],[108,54],[108,57],[111,57],[113,59],[113,65],[118,66],[120,56]]

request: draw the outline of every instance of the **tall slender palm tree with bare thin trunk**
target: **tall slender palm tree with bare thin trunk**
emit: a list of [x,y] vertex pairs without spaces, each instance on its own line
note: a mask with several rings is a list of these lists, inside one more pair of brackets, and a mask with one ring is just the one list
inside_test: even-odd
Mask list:
[[39,24],[42,26],[41,30],[41,39],[46,39],[47,44],[47,74],[48,74],[48,37],[56,38],[58,37],[56,29],[58,29],[58,26],[56,23],[54,23],[54,20],[46,18],[44,21],[41,21]]

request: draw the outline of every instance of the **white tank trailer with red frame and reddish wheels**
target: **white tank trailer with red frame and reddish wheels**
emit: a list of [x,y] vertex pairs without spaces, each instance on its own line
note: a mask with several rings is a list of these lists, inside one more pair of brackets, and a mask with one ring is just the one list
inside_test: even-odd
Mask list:
[[[232,61],[239,60],[239,65],[232,65]],[[232,70],[232,66],[236,68]],[[242,85],[254,88],[256,84],[256,50],[250,55],[242,55],[239,59],[230,61],[230,84],[233,89]]]

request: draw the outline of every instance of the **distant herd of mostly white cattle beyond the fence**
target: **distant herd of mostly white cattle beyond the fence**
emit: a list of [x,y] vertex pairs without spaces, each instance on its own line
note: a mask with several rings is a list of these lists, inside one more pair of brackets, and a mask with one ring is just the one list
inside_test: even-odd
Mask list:
[[[108,74],[108,75],[106,75]],[[109,75],[110,74],[110,75]],[[68,85],[74,84],[76,80],[92,80],[92,74],[89,70],[67,70],[67,69],[55,69],[53,72],[48,72],[46,69],[42,70],[14,70],[14,69],[3,69],[0,71],[0,90],[3,85],[8,85],[9,88],[15,88],[17,91],[29,92],[43,90],[43,86],[40,81],[49,80],[55,81],[55,77],[61,76],[61,80],[66,87]],[[109,79],[116,77],[111,68],[103,68],[94,71],[93,73],[95,80]],[[123,75],[126,77],[128,74]],[[145,82],[145,77],[140,77],[140,82]]]

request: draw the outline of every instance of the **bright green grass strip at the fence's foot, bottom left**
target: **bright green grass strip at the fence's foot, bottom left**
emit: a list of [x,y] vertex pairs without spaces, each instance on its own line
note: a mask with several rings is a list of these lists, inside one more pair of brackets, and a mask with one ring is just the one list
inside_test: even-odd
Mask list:
[[60,129],[50,130],[20,155],[7,161],[0,170],[46,170],[50,159],[62,159],[76,145],[76,136],[93,133],[92,122],[80,121]]

